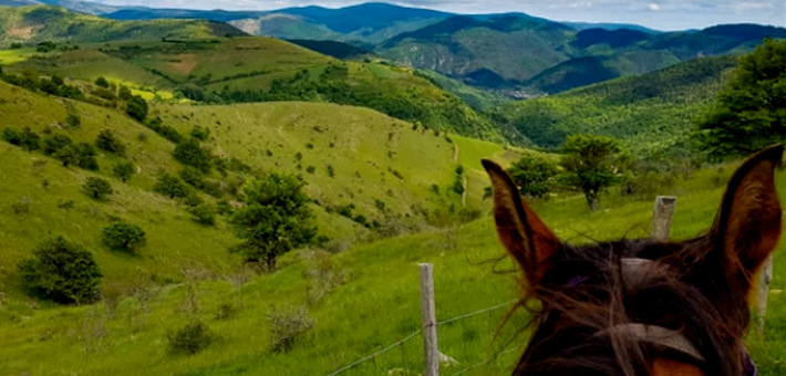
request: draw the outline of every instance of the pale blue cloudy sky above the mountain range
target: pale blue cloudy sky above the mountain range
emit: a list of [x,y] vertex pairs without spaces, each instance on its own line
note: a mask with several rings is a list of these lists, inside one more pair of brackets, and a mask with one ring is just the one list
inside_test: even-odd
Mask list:
[[[322,6],[341,8],[358,0],[99,0],[153,8],[271,10]],[[376,0],[382,1],[382,0]],[[659,30],[702,29],[752,22],[786,27],[786,0],[390,0],[386,2],[456,13],[517,11],[555,21],[637,23]]]

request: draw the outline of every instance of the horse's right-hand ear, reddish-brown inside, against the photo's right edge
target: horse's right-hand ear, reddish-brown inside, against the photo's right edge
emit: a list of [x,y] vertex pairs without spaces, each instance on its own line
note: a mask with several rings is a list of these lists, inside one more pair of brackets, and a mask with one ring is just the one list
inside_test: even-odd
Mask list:
[[756,273],[780,238],[780,202],[775,169],[784,147],[769,147],[746,160],[732,177],[711,236],[721,246],[726,272]]

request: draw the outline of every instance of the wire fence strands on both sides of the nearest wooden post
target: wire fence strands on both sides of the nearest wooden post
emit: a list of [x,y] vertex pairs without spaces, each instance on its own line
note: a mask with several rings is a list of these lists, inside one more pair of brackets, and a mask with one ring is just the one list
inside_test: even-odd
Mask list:
[[[457,376],[457,375],[463,375],[466,374],[473,369],[476,369],[478,367],[482,367],[484,365],[487,365],[495,359],[498,359],[499,357],[503,357],[504,355],[510,354],[517,349],[520,348],[518,345],[514,345],[511,347],[505,348],[501,352],[493,352],[490,356],[483,357],[483,355],[486,355],[489,353],[489,349],[493,347],[492,341],[493,341],[493,335],[490,333],[494,333],[494,327],[499,324],[499,317],[495,317],[493,314],[496,311],[499,311],[501,309],[511,306],[518,302],[518,300],[511,300],[505,303],[496,304],[494,306],[489,306],[486,309],[482,309],[478,311],[461,314],[457,316],[453,316],[449,318],[445,318],[442,321],[437,321],[436,325],[439,328],[439,337],[441,340],[444,338],[445,343],[449,343],[451,345],[445,346],[445,348],[441,348],[441,351],[444,351],[444,357],[445,359],[448,361],[448,364],[446,365],[447,367],[458,367],[463,366],[464,364],[470,364],[469,366],[464,366],[461,369],[456,370],[453,374],[449,374],[449,376]],[[484,314],[487,314],[488,316],[482,316]],[[451,327],[455,326],[458,328],[458,331],[453,331],[451,333]],[[364,375],[366,374],[378,374],[380,367],[386,368],[386,375],[410,375],[412,374],[415,369],[418,372],[422,372],[422,361],[423,361],[423,354],[422,354],[422,348],[418,348],[416,352],[416,356],[413,356],[411,359],[407,359],[406,356],[406,348],[405,345],[407,345],[408,342],[421,338],[421,334],[423,333],[422,330],[417,330],[410,335],[403,337],[400,341],[396,341],[384,348],[373,352],[366,356],[363,356],[345,366],[342,366],[334,370],[331,374],[328,374],[327,376],[338,376],[341,374],[345,374],[347,372],[353,369],[358,373],[361,372],[361,366],[365,363],[373,363],[372,365],[369,366],[370,369],[368,372],[362,373]],[[489,333],[488,340],[489,342],[486,343],[485,341],[479,341],[480,336],[483,336],[482,333]],[[412,344],[414,345],[414,343]],[[410,345],[410,346],[412,346]],[[420,345],[420,344],[418,344]],[[421,345],[422,346],[422,345]],[[397,361],[387,361],[387,362],[382,362],[380,357],[384,355],[385,353],[389,353],[391,351],[394,351],[396,348],[401,349],[401,359]],[[413,352],[411,349],[411,352]],[[457,355],[458,354],[458,355]],[[459,361],[456,361],[453,356],[456,356]],[[478,362],[477,357],[480,356],[482,359]],[[472,363],[472,362],[475,363]],[[379,363],[379,364],[378,364]],[[413,367],[414,365],[417,365],[416,367]],[[413,367],[413,369],[411,369]],[[354,373],[353,373],[354,374]]]

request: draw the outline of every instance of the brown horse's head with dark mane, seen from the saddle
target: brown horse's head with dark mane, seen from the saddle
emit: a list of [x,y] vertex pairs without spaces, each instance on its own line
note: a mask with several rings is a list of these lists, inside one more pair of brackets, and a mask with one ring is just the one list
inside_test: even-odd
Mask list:
[[[534,311],[514,375],[756,375],[744,348],[754,275],[780,237],[774,146],[734,174],[711,230],[681,242],[561,242],[484,160],[497,234]],[[537,306],[537,309],[531,309]]]

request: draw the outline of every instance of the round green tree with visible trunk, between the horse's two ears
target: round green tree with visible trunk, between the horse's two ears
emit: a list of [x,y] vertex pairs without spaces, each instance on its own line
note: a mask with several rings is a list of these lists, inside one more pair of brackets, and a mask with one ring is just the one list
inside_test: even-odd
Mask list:
[[590,210],[603,189],[619,182],[627,158],[617,139],[593,135],[568,137],[562,146],[565,182],[583,191]]

